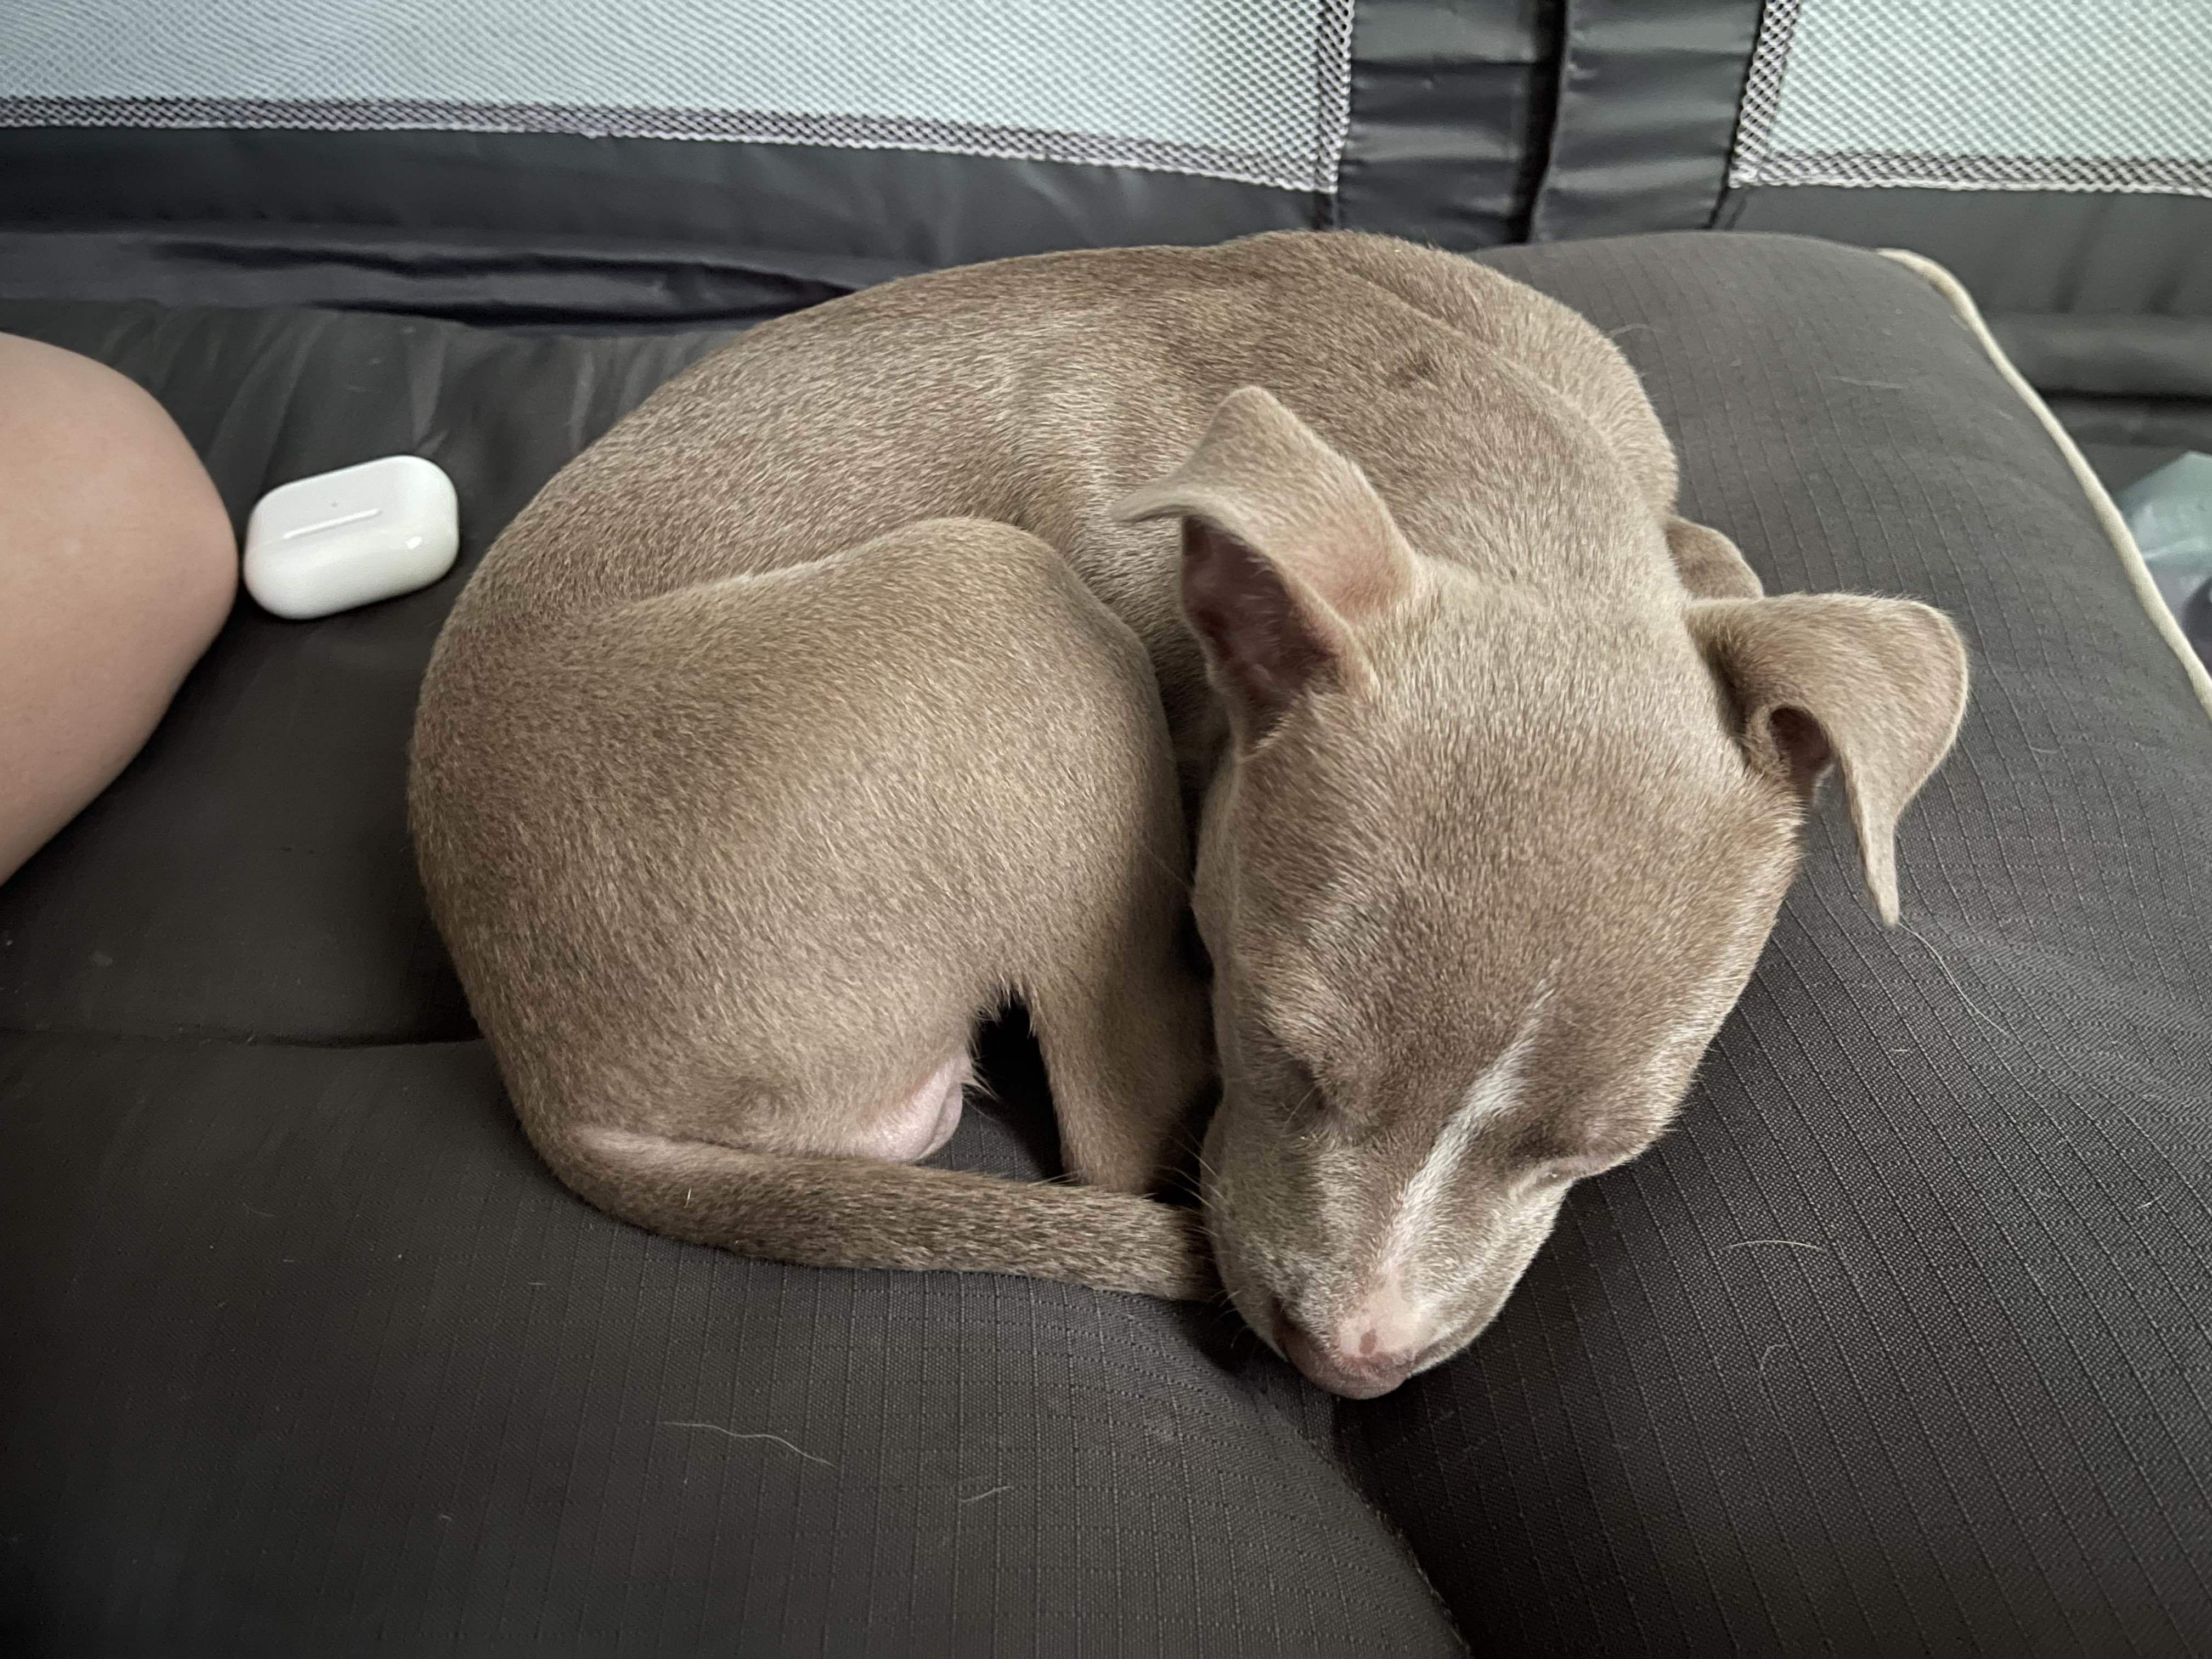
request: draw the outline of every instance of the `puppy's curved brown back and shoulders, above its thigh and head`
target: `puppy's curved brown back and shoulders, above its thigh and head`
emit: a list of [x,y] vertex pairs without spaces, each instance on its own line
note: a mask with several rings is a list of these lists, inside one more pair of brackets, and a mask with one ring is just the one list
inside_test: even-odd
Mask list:
[[[1170,471],[1241,385],[1270,387],[1356,460],[1422,546],[1542,549],[1513,571],[1540,586],[1672,582],[1663,557],[1624,560],[1613,533],[1670,509],[1674,458],[1604,334],[1453,254],[1281,232],[971,265],[768,323],[546,484],[449,637],[529,650],[538,624],[575,611],[925,518],[998,520],[1060,549],[1137,630],[1194,776],[1221,730],[1175,538],[1110,509]],[[1562,535],[1562,513],[1586,533]]]

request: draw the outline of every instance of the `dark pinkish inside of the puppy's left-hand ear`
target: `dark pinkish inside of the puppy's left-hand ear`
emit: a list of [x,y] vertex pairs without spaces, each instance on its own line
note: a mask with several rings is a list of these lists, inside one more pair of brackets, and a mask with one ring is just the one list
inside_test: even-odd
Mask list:
[[1183,520],[1183,613],[1243,717],[1243,737],[1263,737],[1321,679],[1334,679],[1352,650],[1345,626],[1250,544]]

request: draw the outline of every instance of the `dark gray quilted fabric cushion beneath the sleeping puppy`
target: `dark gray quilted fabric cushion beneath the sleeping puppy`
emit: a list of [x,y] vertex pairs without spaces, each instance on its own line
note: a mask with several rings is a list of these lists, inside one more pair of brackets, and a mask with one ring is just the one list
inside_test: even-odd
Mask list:
[[[0,887],[0,1632],[51,1652],[2185,1652],[2212,1641],[2212,721],[2042,427],[1874,254],[1511,250],[1770,588],[1975,653],[1880,929],[1834,814],[1683,1126],[1367,1402],[1219,1314],[803,1272],[568,1199],[400,818],[462,580],[241,606]],[[467,553],[703,336],[7,303],[237,511],[392,449]],[[1020,1033],[951,1157],[1053,1159]],[[703,1425],[703,1427],[701,1427]],[[1416,1571],[1418,1566],[1418,1571]]]

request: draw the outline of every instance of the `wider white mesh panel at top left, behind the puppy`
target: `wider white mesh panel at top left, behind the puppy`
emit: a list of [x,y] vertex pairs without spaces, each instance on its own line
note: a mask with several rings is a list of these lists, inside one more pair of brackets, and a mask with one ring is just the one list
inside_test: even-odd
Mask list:
[[9,0],[0,126],[586,133],[1334,190],[1352,0]]

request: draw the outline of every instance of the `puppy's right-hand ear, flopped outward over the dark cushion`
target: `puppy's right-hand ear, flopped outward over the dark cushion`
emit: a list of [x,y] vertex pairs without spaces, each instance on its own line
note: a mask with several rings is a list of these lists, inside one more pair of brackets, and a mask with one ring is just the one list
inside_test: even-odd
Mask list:
[[1710,599],[1690,633],[1728,686],[1736,737],[1807,799],[1834,763],[1851,796],[1867,891],[1898,920],[1896,827],[1966,712],[1966,648],[1911,599],[1785,593]]

